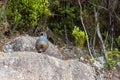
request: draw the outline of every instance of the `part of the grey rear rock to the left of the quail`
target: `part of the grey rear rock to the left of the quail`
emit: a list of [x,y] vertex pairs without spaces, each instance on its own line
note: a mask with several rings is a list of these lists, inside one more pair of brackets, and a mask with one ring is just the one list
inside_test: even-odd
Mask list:
[[16,37],[10,42],[7,42],[3,46],[3,51],[6,53],[12,53],[16,51],[36,51],[35,41],[37,37],[20,36]]

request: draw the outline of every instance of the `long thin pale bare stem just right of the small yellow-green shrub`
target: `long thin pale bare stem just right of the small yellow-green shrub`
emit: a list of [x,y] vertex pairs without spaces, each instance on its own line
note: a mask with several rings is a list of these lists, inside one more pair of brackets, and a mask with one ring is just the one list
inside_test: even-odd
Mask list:
[[[82,6],[81,6],[81,3],[80,3],[80,0],[78,0],[78,3],[79,3],[79,6],[80,6],[80,19],[81,19],[81,22],[82,22],[82,26],[83,26],[83,28],[84,28],[85,35],[88,36],[87,31],[86,31],[86,28],[85,28],[85,24],[84,24],[84,22],[83,22]],[[92,55],[92,53],[91,53],[90,44],[89,44],[89,40],[88,40],[88,39],[87,39],[87,47],[88,47],[88,51],[89,51],[89,53],[90,53],[90,56],[91,56],[92,58],[94,58],[93,55]]]

